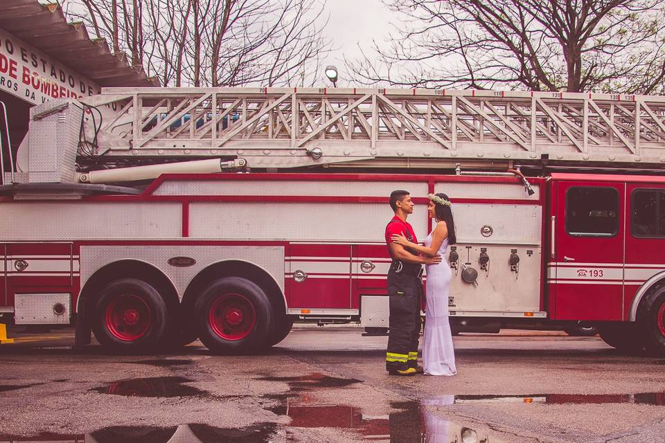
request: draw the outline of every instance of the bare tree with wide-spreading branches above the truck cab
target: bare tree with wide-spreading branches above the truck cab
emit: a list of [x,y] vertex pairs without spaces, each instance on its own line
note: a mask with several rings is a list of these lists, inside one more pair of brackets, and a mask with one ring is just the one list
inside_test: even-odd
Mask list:
[[347,61],[356,80],[411,87],[664,91],[660,0],[384,0],[388,46]]

